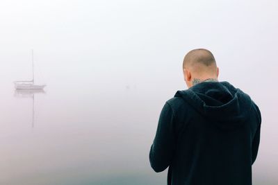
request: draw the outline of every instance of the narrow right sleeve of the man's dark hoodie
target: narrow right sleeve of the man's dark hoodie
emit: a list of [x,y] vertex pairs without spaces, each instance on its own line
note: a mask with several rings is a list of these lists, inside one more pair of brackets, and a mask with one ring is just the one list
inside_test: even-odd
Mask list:
[[254,138],[252,141],[252,164],[256,160],[256,156],[258,155],[259,143],[260,143],[260,135],[261,135],[261,112],[259,107],[255,104],[256,114],[258,115],[258,125],[256,127],[256,132],[254,134]]

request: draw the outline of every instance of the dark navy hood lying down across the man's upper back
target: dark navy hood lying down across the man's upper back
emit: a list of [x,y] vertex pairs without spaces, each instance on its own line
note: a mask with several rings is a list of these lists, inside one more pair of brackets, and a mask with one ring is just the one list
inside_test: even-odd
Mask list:
[[250,116],[251,98],[227,81],[200,82],[189,89],[177,91],[197,112],[222,128],[243,125]]

